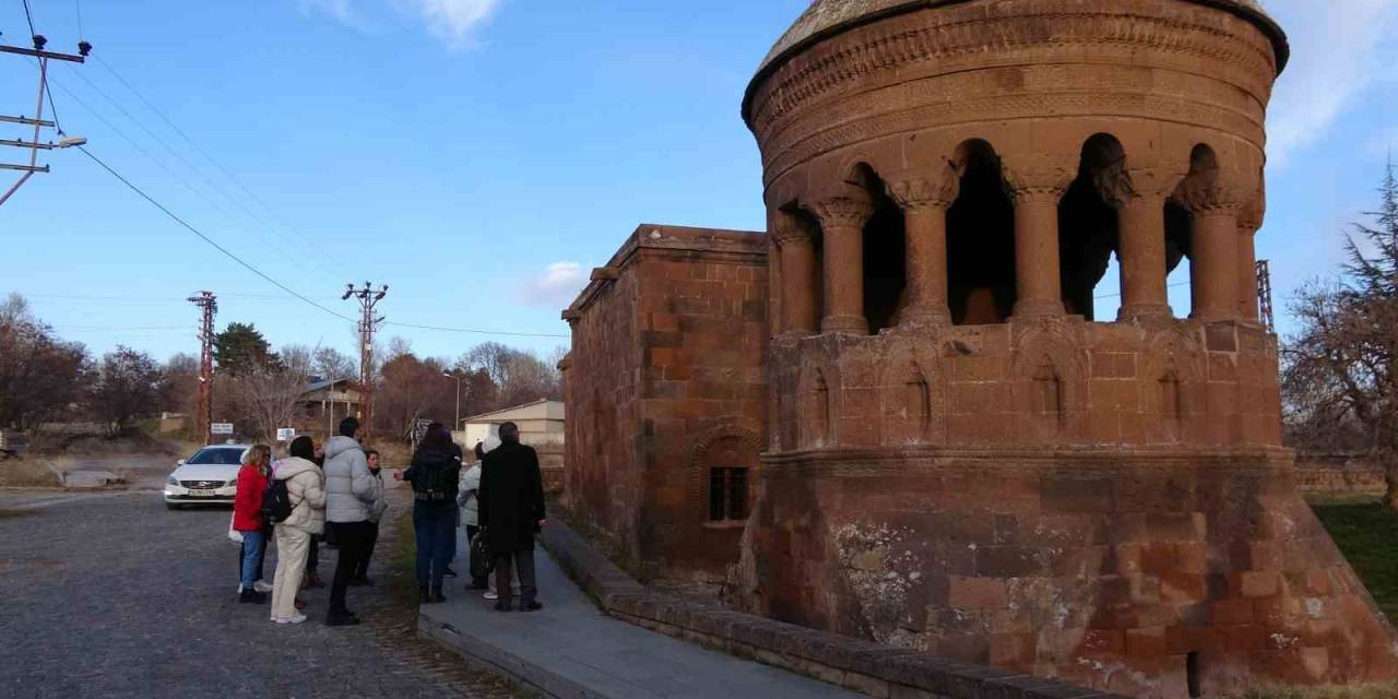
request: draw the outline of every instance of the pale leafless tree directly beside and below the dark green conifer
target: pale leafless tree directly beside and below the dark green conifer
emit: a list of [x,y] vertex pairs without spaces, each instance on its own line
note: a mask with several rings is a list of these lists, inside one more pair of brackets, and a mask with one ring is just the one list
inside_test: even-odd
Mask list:
[[253,366],[225,382],[232,410],[254,426],[257,436],[267,439],[275,436],[278,428],[295,425],[310,384],[309,350],[284,347],[280,356],[280,365]]

